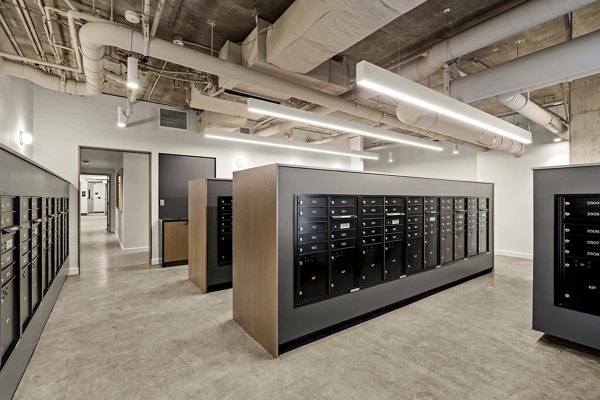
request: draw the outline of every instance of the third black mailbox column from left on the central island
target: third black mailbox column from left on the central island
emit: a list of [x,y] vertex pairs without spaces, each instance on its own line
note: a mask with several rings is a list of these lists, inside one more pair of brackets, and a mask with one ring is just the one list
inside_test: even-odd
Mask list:
[[358,198],[360,225],[359,274],[361,287],[376,284],[384,278],[384,198],[361,196]]

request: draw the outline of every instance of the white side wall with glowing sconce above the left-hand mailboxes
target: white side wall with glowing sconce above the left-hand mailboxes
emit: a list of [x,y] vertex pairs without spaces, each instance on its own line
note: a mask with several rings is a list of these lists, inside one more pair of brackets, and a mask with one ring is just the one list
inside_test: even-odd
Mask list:
[[[0,58],[0,71],[2,61]],[[19,132],[33,134],[33,85],[0,73],[0,143],[31,158],[33,144],[19,144]]]

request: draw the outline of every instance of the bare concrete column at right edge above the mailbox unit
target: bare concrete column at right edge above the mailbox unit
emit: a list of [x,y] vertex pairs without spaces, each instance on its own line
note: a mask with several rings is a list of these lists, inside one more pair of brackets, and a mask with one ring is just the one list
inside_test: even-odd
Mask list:
[[600,74],[571,83],[571,164],[600,162]]

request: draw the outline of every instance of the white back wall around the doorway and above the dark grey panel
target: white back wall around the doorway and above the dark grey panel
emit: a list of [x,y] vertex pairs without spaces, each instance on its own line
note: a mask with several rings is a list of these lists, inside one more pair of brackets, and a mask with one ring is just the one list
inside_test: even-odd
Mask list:
[[[216,157],[217,177],[231,178],[237,159],[246,167],[271,163],[300,164],[329,168],[349,168],[348,157],[312,155],[292,150],[272,150],[265,147],[233,145],[204,139],[196,131],[194,115],[190,113],[190,129],[178,131],[158,126],[159,106],[138,103],[130,126],[116,127],[117,106],[122,99],[112,96],[82,98],[55,93],[34,86],[34,128],[36,146],[33,159],[65,179],[78,182],[78,147],[91,146],[151,152],[152,165],[152,257],[158,262],[158,153],[188,154]],[[77,198],[71,199],[78,204]],[[72,213],[73,215],[73,213]],[[76,216],[76,213],[74,213]],[[71,220],[72,232],[77,232],[77,220]],[[72,237],[74,253],[77,249]],[[77,254],[71,259],[76,268]]]

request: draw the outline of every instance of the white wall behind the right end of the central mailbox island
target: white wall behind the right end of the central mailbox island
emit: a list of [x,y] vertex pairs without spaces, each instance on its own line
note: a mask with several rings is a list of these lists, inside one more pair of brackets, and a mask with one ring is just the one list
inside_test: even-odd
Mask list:
[[445,144],[443,153],[418,149],[387,151],[379,161],[365,163],[366,171],[399,175],[494,183],[494,240],[496,254],[533,257],[533,173],[532,168],[569,163],[569,144],[530,145],[521,158],[504,152],[477,152],[460,147],[452,155]]

